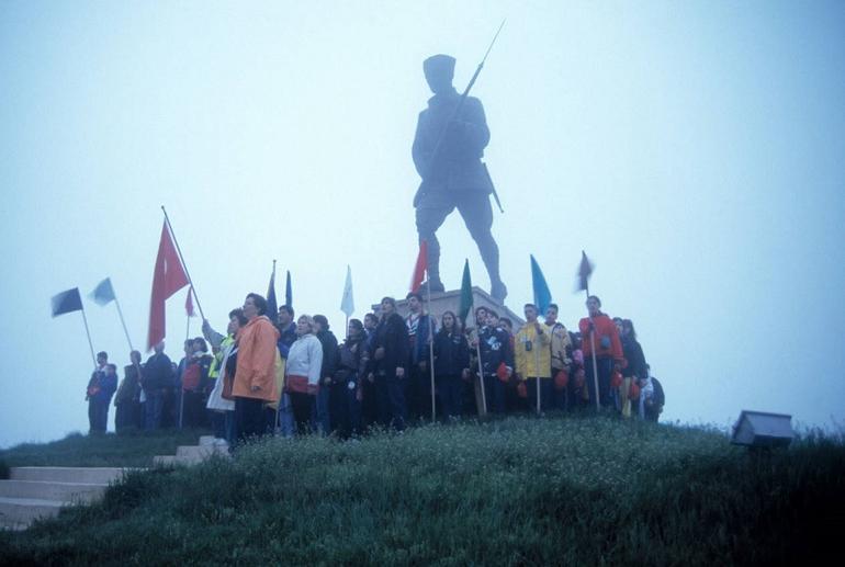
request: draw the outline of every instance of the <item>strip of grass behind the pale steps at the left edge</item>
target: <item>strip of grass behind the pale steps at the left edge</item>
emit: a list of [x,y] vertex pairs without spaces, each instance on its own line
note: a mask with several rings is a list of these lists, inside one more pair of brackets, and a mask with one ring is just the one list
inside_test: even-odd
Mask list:
[[[172,455],[179,445],[195,445],[204,430],[132,431],[115,435],[72,433],[50,443],[23,443],[0,451],[7,466],[126,466],[153,465],[154,455]],[[0,467],[1,468],[1,467]]]

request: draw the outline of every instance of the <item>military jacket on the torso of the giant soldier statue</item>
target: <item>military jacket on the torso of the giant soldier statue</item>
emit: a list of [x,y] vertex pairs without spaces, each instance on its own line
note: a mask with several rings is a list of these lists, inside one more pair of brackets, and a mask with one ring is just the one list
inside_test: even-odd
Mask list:
[[[478,99],[466,99],[460,115],[447,129],[437,162],[431,162],[440,133],[460,100],[461,95],[454,89],[450,93],[436,94],[428,100],[428,109],[419,113],[412,147],[414,166],[422,178],[419,196],[452,191],[492,191],[481,162],[489,143],[489,129]],[[414,205],[417,204],[418,200],[415,200]]]

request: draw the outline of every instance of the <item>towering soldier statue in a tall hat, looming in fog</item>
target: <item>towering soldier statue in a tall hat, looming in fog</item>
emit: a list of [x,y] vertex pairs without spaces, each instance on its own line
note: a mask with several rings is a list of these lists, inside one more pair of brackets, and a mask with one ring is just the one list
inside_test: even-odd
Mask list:
[[[481,158],[489,141],[484,107],[478,99],[452,87],[454,58],[435,55],[422,63],[426,81],[435,93],[419,113],[414,136],[414,165],[422,178],[414,206],[420,242],[428,241],[428,277],[432,292],[444,291],[440,281],[440,243],[437,229],[458,208],[478,245],[491,280],[491,295],[503,300],[507,287],[499,276],[499,250],[493,238],[493,183]],[[477,75],[477,73],[476,73]],[[459,109],[455,114],[455,110]]]

